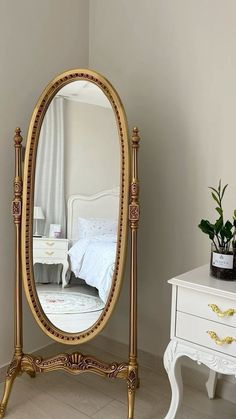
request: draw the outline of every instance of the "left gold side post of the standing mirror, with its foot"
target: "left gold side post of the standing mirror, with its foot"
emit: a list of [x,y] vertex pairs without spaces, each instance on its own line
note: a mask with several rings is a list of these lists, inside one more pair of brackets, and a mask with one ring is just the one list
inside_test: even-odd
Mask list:
[[14,199],[12,201],[12,216],[15,224],[15,298],[14,298],[14,342],[15,352],[13,360],[6,373],[5,388],[0,404],[0,418],[3,418],[10,397],[13,382],[21,373],[21,360],[23,356],[22,333],[22,275],[21,275],[21,214],[22,214],[22,141],[21,129],[16,128],[14,136],[15,147],[15,177]]

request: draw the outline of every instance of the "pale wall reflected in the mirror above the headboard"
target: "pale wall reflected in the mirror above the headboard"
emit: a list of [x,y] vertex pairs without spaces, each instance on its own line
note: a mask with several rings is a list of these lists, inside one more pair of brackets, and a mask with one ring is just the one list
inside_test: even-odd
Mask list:
[[65,100],[65,190],[91,195],[120,184],[120,150],[112,109]]

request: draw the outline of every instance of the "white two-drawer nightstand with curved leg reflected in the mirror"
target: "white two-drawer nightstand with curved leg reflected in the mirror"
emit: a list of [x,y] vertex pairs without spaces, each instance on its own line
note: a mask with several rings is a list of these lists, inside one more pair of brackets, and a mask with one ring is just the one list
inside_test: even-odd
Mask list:
[[64,288],[69,275],[68,239],[52,239],[47,237],[33,238],[33,261],[35,263],[62,264],[62,287]]

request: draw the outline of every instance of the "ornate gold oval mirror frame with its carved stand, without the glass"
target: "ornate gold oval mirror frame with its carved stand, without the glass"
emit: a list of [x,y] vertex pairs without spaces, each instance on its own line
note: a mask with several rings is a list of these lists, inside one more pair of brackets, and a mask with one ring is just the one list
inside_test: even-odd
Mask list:
[[[118,233],[116,271],[113,286],[105,309],[98,321],[82,333],[64,333],[52,325],[42,312],[34,285],[32,265],[32,208],[34,193],[34,172],[39,132],[45,112],[58,90],[73,80],[90,80],[97,84],[111,102],[116,115],[117,128],[121,144],[121,198]],[[20,128],[14,136],[15,146],[15,179],[12,215],[16,229],[16,272],[15,272],[15,351],[13,360],[7,370],[3,398],[0,404],[0,418],[4,417],[12,384],[15,378],[26,372],[35,377],[39,372],[65,370],[71,374],[93,372],[108,378],[122,378],[128,385],[128,419],[134,418],[135,390],[138,387],[137,364],[137,230],[139,222],[139,180],[138,148],[139,131],[132,133],[132,174],[129,174],[129,141],[125,112],[116,91],[110,83],[98,73],[91,70],[67,71],[54,79],[45,89],[33,112],[25,158],[24,181],[22,181],[22,136]],[[23,199],[22,199],[23,193]],[[114,310],[124,274],[124,258],[127,243],[127,221],[131,229],[131,269],[130,269],[130,332],[129,360],[122,363],[105,363],[80,352],[59,354],[50,358],[23,353],[22,337],[22,278],[26,297],[31,311],[43,331],[52,339],[65,344],[85,342],[99,333],[107,323]]]

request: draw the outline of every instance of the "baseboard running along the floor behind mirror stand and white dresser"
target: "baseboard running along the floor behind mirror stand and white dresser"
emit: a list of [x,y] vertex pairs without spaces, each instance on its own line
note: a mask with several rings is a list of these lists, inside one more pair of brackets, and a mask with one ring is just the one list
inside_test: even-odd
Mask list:
[[[114,355],[114,357],[121,357],[124,360],[128,359],[128,345],[118,342],[114,339],[108,338],[103,335],[98,335],[88,344],[82,345],[86,352],[86,346],[89,348],[96,347],[104,352],[109,352]],[[68,346],[67,351],[78,350],[78,346]],[[60,345],[57,343],[50,343],[49,345],[44,345],[37,350],[34,350],[32,355],[39,354],[42,356],[51,356],[60,351],[65,351],[65,345]],[[166,374],[162,357],[159,355],[154,355],[150,352],[139,350],[138,351],[138,362],[142,367],[150,368],[152,371],[156,371],[157,374]],[[5,374],[8,365],[0,367],[0,382],[5,380]],[[197,365],[195,362],[191,361],[188,358],[184,358],[182,362],[182,375],[184,384],[197,389],[200,391],[206,392],[205,383],[208,379],[209,370],[203,365]],[[235,386],[236,381],[233,377],[221,376],[219,375],[216,397],[228,400],[232,403],[235,401]]]

